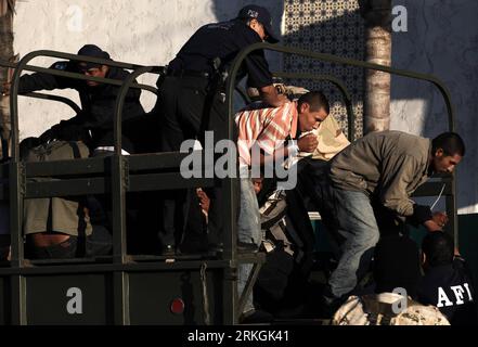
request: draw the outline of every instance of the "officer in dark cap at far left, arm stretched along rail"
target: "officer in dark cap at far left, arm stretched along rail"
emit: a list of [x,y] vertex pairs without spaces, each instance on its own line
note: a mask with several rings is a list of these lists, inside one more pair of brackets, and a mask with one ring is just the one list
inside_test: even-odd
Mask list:
[[[111,60],[107,52],[94,44],[83,46],[78,51],[78,55]],[[129,73],[122,68],[75,61],[56,62],[51,68],[117,80],[124,80],[129,75]],[[81,102],[81,113],[53,126],[42,136],[42,139],[65,141],[81,140],[86,142],[91,150],[111,147],[113,145],[113,119],[116,97],[119,92],[118,86],[102,85],[95,81],[83,81],[38,73],[21,77],[18,93],[23,94],[38,90],[66,88],[78,91]],[[10,86],[5,85],[3,89],[4,92],[8,93]],[[144,115],[144,110],[140,103],[140,89],[129,89],[124,105],[124,123],[132,121],[132,119],[138,116]],[[124,125],[124,129],[125,132],[128,132],[129,127]],[[91,137],[89,131],[91,131]],[[131,134],[131,137],[133,136],[134,134]],[[134,152],[132,142],[133,141],[130,141],[128,137],[122,137],[122,146],[127,152]]]

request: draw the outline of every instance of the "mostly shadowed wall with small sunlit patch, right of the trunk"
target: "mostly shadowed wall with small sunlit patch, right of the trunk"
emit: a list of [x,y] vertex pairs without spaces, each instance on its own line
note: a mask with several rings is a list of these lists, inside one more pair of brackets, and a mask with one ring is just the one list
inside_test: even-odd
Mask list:
[[[392,65],[431,74],[441,79],[451,93],[455,111],[455,131],[467,144],[464,160],[457,167],[457,205],[462,213],[476,213],[478,124],[478,2],[393,1],[408,10],[408,31],[392,35]],[[448,131],[448,115],[440,92],[428,82],[392,78],[392,127],[412,133],[435,137]]]

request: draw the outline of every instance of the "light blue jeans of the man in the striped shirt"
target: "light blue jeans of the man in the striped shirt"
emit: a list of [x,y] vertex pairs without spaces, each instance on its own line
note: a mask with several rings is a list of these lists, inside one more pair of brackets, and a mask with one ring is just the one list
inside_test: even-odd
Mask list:
[[[237,237],[240,242],[255,243],[260,245],[262,235],[260,231],[260,214],[259,204],[257,202],[256,192],[254,191],[250,178],[241,178],[241,210],[237,220]],[[246,286],[247,279],[253,270],[251,264],[238,265],[237,273],[237,293],[241,294]],[[244,312],[254,309],[253,294],[246,299]]]

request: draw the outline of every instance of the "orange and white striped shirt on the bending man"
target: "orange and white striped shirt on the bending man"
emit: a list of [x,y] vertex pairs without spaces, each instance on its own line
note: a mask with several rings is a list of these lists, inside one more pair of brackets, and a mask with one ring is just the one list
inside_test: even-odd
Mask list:
[[251,165],[250,150],[255,143],[267,154],[274,154],[284,140],[297,133],[297,102],[286,102],[281,107],[247,107],[235,115],[238,130],[240,166]]

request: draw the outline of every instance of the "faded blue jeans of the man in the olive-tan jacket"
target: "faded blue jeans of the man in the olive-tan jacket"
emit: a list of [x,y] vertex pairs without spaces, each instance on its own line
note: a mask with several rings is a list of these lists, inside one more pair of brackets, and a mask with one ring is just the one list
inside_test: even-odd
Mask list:
[[378,242],[379,231],[370,197],[362,192],[331,188],[335,233],[340,257],[328,280],[332,295],[340,298],[350,294],[366,272]]

